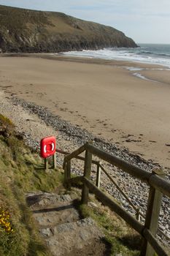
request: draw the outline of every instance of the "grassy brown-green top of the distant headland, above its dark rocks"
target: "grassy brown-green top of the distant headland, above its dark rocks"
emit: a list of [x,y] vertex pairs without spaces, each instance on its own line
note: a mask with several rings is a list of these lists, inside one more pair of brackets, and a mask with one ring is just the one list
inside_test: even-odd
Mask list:
[[[43,12],[26,10],[16,7],[5,7],[0,5],[0,26],[6,27],[9,31],[26,29],[26,26],[46,26],[53,32],[58,33],[82,33],[97,34],[102,31],[114,31],[122,33],[110,26],[104,26],[91,21],[80,20],[62,12]],[[10,17],[10,18],[9,18]],[[122,33],[123,34],[123,33]]]

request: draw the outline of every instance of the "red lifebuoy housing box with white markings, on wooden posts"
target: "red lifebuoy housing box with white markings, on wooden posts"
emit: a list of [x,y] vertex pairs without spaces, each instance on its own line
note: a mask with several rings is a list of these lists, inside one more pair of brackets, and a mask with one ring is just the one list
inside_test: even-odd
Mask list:
[[55,154],[56,140],[55,137],[46,137],[40,143],[40,155],[42,158],[47,158]]

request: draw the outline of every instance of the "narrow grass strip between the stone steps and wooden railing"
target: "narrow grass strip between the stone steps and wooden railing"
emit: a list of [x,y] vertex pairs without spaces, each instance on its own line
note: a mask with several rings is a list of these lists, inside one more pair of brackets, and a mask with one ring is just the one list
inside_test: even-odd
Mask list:
[[80,205],[79,209],[82,217],[91,217],[101,227],[105,241],[111,247],[110,255],[138,256],[140,236],[109,208],[98,205],[96,200],[95,203],[96,207]]

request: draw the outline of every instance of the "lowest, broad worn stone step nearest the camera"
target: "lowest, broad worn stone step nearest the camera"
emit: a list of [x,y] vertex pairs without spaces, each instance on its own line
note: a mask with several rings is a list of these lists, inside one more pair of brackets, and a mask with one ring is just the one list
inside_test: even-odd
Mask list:
[[81,251],[85,247],[91,246],[94,241],[101,244],[101,240],[104,238],[104,234],[91,218],[42,228],[39,232],[45,238],[53,256],[63,256],[72,251]]

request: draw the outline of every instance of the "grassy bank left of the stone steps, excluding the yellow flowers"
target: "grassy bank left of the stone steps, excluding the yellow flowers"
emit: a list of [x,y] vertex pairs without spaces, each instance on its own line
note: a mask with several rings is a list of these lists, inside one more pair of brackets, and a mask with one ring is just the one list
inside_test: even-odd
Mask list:
[[0,224],[0,255],[50,255],[26,204],[26,193],[52,192],[63,183],[61,170],[45,173],[39,154],[18,139],[12,122],[0,115],[0,207],[9,212],[14,232]]

